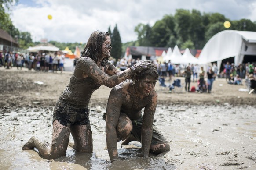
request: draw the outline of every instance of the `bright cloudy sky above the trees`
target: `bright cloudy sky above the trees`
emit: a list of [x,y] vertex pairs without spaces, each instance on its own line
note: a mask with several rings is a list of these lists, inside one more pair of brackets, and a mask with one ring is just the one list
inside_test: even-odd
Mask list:
[[[218,12],[230,20],[256,21],[256,0],[19,0],[11,9],[16,28],[34,41],[86,43],[91,32],[117,28],[123,43],[134,41],[134,28],[150,24],[176,9]],[[52,19],[48,19],[48,15]]]

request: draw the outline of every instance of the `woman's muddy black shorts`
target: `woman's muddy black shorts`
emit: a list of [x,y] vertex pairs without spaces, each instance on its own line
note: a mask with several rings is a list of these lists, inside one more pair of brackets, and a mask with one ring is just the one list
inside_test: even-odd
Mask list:
[[90,125],[89,114],[88,107],[81,109],[58,101],[53,111],[53,121],[58,120],[60,124],[69,128],[72,125]]

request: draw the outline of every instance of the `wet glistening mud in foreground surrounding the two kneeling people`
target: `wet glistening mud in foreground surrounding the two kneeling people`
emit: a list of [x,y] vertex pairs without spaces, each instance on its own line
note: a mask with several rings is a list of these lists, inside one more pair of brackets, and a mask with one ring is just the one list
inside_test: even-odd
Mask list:
[[[172,170],[256,169],[256,109],[252,106],[157,106],[154,124],[170,142],[164,156],[141,158],[140,143],[121,146],[121,161],[110,163],[106,150],[105,108],[91,107],[93,153],[75,152],[56,160],[22,151],[33,135],[51,142],[52,107],[0,112],[0,169],[27,170]],[[72,140],[72,138],[70,138]]]

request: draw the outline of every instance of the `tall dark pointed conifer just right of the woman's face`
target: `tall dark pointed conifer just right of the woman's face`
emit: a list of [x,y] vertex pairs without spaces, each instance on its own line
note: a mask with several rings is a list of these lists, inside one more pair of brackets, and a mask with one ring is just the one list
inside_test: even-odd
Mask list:
[[114,57],[115,59],[119,59],[122,56],[122,42],[121,42],[121,37],[120,33],[118,31],[117,25],[113,29],[113,33],[111,36],[111,56]]

